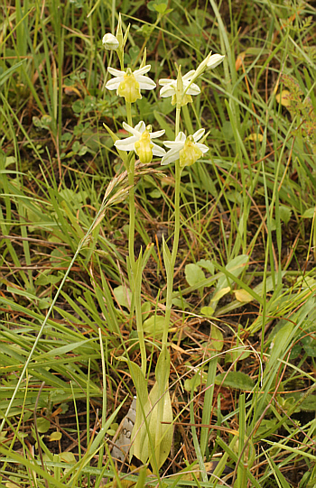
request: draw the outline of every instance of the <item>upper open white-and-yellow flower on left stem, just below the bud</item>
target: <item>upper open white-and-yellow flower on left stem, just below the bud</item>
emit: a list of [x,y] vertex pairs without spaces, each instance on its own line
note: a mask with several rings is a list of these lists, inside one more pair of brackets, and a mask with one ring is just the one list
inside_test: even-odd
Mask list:
[[116,90],[116,95],[125,97],[126,102],[134,103],[137,99],[142,98],[141,90],[153,90],[156,87],[151,78],[144,76],[144,73],[147,73],[150,69],[150,64],[135,71],[130,68],[127,68],[126,71],[120,71],[119,69],[108,67],[107,71],[116,78],[107,81],[106,88],[108,90]]

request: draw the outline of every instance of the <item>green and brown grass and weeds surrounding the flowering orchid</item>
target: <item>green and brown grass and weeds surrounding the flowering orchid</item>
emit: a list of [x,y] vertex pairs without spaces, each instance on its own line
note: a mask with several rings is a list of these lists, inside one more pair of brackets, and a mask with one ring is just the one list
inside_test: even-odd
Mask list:
[[[1,486],[315,484],[315,9],[168,7],[160,20],[153,2],[1,7]],[[118,65],[101,43],[118,12],[124,30],[131,23],[126,61],[138,67],[146,46],[154,79],[174,78],[174,62],[194,69],[210,50],[226,56],[181,118],[184,132],[210,131],[210,151],[181,182],[174,431],[158,482],[118,472],[110,456],[135,394],[126,360],[140,364],[129,186],[103,127],[119,134],[125,120],[122,99],[104,88],[107,65]],[[172,107],[157,91],[133,110],[173,138]],[[174,171],[154,161],[135,176],[136,256],[154,244],[141,289],[153,384]]]

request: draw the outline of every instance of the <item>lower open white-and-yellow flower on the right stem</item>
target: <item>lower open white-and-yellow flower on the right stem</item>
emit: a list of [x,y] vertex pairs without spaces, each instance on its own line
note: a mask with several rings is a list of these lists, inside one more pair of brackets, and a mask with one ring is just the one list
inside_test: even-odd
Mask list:
[[180,160],[181,168],[184,168],[184,166],[191,166],[191,164],[200,159],[205,152],[209,151],[208,146],[198,143],[204,133],[205,129],[199,129],[199,131],[193,135],[186,137],[185,134],[180,132],[175,141],[165,141],[163,144],[168,147],[170,151],[163,156],[162,164],[169,164],[170,162]]

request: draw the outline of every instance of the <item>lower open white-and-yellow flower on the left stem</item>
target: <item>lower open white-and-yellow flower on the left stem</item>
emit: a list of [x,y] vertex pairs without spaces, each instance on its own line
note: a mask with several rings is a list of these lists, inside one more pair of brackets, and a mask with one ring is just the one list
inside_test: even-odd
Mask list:
[[115,146],[120,151],[135,151],[139,160],[143,163],[152,161],[153,155],[163,157],[165,151],[163,147],[159,147],[157,144],[152,143],[152,139],[161,137],[164,134],[163,131],[151,132],[151,125],[145,126],[143,120],[139,122],[135,127],[123,122],[125,131],[133,134],[131,137],[116,141]]

